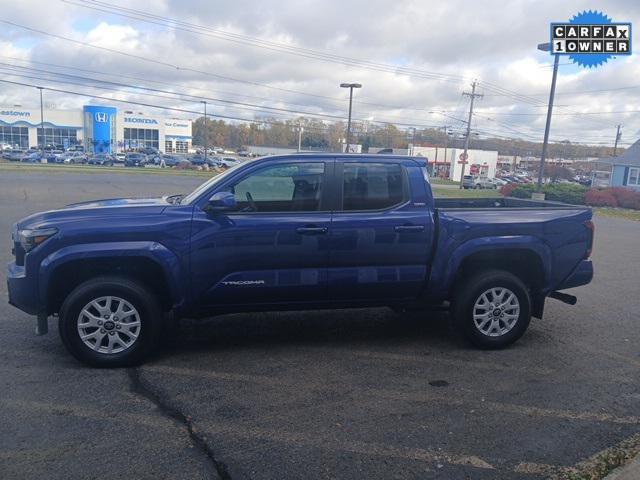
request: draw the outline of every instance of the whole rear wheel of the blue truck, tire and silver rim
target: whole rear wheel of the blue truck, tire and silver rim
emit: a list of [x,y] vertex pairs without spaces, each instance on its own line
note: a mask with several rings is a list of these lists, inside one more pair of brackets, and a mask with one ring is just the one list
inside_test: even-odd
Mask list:
[[456,330],[474,345],[504,348],[518,340],[531,320],[531,297],[518,277],[504,270],[471,275],[456,287]]

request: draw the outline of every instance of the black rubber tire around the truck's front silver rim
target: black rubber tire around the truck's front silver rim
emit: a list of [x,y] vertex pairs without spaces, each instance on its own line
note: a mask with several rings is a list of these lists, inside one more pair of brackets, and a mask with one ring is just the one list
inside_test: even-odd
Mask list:
[[[82,309],[92,300],[104,296],[125,300],[138,311],[140,317],[137,339],[118,353],[101,353],[91,349],[78,332],[78,316]],[[156,347],[163,318],[156,296],[144,286],[128,278],[104,276],[80,284],[67,296],[60,308],[58,329],[62,343],[77,360],[92,367],[130,367],[140,364]],[[117,332],[110,334],[118,335]],[[107,336],[104,338],[109,341]]]

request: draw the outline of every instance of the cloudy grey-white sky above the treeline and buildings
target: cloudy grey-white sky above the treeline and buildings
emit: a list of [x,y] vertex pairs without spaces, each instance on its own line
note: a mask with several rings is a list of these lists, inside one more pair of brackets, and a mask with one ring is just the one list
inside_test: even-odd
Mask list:
[[[110,104],[196,118],[206,100],[222,117],[334,121],[348,107],[340,83],[358,82],[357,122],[461,132],[462,93],[477,80],[478,135],[541,141],[553,58],[536,46],[549,22],[595,8],[640,29],[637,0],[4,2],[0,80],[32,86],[0,83],[0,106],[38,107],[37,85],[59,109]],[[638,60],[589,69],[561,57],[552,141],[609,145],[618,124],[623,146],[640,138]]]

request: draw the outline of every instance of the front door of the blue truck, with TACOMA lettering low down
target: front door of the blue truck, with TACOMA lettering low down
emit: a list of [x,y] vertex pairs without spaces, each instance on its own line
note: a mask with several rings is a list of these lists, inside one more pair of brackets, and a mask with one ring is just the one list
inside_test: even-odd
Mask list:
[[333,161],[287,159],[216,187],[231,212],[194,211],[191,272],[201,307],[322,301],[327,297],[327,177]]

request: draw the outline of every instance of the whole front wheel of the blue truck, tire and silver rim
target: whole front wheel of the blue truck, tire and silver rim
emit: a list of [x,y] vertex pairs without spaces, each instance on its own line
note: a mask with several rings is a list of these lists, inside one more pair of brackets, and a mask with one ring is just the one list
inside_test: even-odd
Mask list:
[[153,293],[121,277],[97,277],[76,287],[60,308],[62,343],[94,367],[139,364],[156,346],[162,311]]

